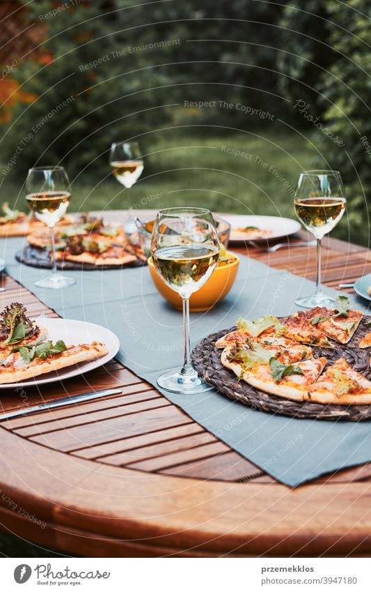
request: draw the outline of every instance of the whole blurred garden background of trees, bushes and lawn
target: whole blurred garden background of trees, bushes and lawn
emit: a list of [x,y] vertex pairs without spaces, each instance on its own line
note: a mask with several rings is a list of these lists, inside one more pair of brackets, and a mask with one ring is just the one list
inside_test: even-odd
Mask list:
[[[370,0],[0,4],[1,202],[60,163],[72,210],[188,204],[294,217],[301,169],[339,170],[336,236],[368,244]],[[137,139],[125,190],[109,147]],[[156,196],[156,197],[153,197]]]

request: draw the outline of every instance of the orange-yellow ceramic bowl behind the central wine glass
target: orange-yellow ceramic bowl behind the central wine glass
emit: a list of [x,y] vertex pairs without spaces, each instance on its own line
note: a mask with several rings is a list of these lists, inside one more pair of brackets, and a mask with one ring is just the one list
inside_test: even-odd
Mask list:
[[[197,292],[191,295],[189,298],[189,308],[194,312],[201,310],[208,310],[216,305],[217,302],[223,300],[230,291],[233,283],[235,282],[239,259],[237,255],[231,252],[227,252],[229,257],[233,257],[233,260],[224,265],[216,266],[214,273],[211,278],[207,280],[205,285],[200,288]],[[148,267],[150,269],[150,275],[153,283],[157,287],[157,290],[166,301],[171,303],[178,310],[182,310],[182,298],[168,287],[168,285],[161,278],[161,275],[157,273],[157,270],[153,264],[152,257],[148,259]]]

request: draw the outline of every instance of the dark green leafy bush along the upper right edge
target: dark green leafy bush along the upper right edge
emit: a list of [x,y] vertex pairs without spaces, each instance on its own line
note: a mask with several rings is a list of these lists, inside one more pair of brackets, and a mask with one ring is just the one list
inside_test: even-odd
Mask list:
[[[338,138],[335,142],[317,130],[314,140],[318,160],[324,158],[327,166],[339,170],[345,182],[348,225],[343,222],[337,235],[368,245],[371,1],[313,0],[306,3],[306,12],[298,10],[300,7],[302,3],[294,0],[283,15],[287,49],[292,55],[281,59],[280,67],[295,80],[289,84],[283,78],[281,84],[291,100],[310,103],[308,113],[313,118],[319,116],[333,138]],[[313,121],[306,123],[313,126]]]

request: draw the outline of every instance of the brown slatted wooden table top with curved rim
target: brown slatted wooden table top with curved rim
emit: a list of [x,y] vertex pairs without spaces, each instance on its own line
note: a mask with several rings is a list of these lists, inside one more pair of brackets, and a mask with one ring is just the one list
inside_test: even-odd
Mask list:
[[[297,241],[248,255],[313,280],[315,248],[292,248]],[[326,239],[324,283],[352,282],[370,258]],[[7,275],[2,285],[1,308],[20,301],[30,314],[57,316]],[[370,555],[370,463],[292,490],[116,360],[0,400],[10,411],[118,386],[119,395],[0,423],[2,529],[83,556]]]

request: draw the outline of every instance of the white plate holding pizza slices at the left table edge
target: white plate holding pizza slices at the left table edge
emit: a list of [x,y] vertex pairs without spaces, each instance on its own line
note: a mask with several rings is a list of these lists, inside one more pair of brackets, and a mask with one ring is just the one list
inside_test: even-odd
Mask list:
[[109,349],[108,354],[92,360],[91,362],[83,362],[74,364],[62,370],[48,372],[41,374],[40,377],[35,377],[31,380],[24,380],[21,382],[13,382],[11,384],[0,384],[0,388],[16,388],[24,386],[35,386],[48,384],[49,382],[63,381],[79,374],[85,374],[90,370],[106,364],[109,360],[114,358],[118,352],[120,342],[118,337],[109,329],[95,325],[93,323],[86,323],[85,321],[74,321],[72,319],[37,319],[37,323],[41,327],[47,327],[49,335],[47,339],[56,342],[61,339],[68,345],[77,345],[79,343],[90,343],[92,341],[100,341],[106,344]]

